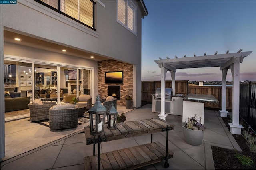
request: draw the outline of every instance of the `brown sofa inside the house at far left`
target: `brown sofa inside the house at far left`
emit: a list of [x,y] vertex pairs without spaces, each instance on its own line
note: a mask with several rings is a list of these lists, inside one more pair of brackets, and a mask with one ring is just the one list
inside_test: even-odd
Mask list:
[[19,92],[5,91],[4,112],[28,109],[30,97],[20,97]]

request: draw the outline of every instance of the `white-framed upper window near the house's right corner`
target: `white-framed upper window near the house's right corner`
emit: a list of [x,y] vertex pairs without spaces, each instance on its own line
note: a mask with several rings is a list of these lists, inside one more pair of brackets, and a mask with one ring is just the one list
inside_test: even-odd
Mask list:
[[136,34],[136,6],[132,1],[117,1],[117,22]]

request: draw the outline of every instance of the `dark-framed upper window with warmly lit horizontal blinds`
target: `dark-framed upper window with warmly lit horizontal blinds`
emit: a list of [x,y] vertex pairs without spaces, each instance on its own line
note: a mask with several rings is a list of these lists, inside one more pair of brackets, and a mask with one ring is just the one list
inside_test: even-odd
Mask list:
[[60,14],[95,30],[94,5],[92,0],[36,0]]

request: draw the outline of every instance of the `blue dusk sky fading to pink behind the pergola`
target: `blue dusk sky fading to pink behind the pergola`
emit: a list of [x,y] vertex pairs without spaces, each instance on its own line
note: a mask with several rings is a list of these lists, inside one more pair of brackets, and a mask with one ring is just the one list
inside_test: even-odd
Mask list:
[[[170,59],[252,51],[240,64],[240,81],[256,81],[256,1],[144,0],[142,81],[160,80],[159,57]],[[170,80],[170,72],[166,80]],[[220,67],[178,69],[176,80],[221,81]],[[227,81],[232,81],[228,69]]]

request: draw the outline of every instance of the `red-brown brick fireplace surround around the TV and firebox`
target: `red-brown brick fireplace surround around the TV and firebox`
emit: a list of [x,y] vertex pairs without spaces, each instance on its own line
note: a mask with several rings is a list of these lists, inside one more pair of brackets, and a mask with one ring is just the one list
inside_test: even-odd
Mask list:
[[[123,84],[105,84],[105,72],[123,71]],[[133,66],[115,60],[98,61],[98,93],[101,99],[108,97],[108,86],[120,86],[120,100],[117,105],[125,106],[125,96],[132,97]]]

